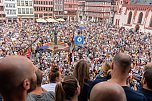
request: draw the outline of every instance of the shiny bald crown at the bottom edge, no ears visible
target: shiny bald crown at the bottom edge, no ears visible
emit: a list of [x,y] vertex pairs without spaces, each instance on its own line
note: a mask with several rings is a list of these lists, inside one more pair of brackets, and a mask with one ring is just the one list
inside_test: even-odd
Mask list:
[[96,84],[90,94],[90,101],[127,101],[123,88],[110,82]]

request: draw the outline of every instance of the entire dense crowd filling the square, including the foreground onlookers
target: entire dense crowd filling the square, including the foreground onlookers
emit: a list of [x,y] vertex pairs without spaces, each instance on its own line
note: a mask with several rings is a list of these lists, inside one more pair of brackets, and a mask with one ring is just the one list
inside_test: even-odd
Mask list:
[[[42,48],[54,33],[69,49]],[[74,45],[75,36],[84,44]],[[4,101],[152,101],[150,62],[152,33],[86,21],[0,25]]]

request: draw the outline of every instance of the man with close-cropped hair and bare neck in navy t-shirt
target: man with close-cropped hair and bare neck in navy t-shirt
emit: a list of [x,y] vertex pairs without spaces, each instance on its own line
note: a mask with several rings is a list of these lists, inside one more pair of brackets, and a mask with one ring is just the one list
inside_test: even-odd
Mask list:
[[127,79],[131,71],[131,58],[125,53],[117,54],[112,63],[112,73],[109,82],[117,83],[123,87],[127,101],[146,101],[143,94],[133,91],[127,86]]

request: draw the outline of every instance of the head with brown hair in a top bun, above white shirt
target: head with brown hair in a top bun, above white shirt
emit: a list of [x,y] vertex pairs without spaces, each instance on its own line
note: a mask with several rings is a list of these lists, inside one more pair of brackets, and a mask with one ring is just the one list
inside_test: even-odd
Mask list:
[[56,83],[61,81],[61,72],[57,65],[52,65],[51,71],[49,74],[50,82]]

